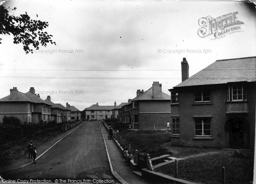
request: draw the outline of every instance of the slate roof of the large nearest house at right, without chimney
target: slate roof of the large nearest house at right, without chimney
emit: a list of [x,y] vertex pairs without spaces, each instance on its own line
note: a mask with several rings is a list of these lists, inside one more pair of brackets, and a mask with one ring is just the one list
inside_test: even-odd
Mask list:
[[175,87],[256,81],[256,56],[216,60]]

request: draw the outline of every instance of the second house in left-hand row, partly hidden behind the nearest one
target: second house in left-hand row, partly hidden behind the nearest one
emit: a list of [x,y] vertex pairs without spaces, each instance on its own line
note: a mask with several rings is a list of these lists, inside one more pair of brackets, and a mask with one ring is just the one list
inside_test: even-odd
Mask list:
[[47,99],[45,99],[44,101],[46,101],[47,103],[49,103],[51,105],[51,121],[56,121],[57,123],[61,123],[63,109],[51,101],[51,96],[47,96]]

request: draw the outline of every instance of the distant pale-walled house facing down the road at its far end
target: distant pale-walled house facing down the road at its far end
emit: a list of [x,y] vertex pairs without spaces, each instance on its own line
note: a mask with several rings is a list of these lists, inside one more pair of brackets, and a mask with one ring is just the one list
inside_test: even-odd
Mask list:
[[86,120],[102,120],[111,118],[114,106],[99,106],[99,103],[93,104],[85,110]]

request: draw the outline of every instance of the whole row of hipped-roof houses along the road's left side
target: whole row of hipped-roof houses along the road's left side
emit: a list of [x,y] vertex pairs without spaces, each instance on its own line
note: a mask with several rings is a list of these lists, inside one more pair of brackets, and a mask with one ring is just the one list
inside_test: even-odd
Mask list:
[[38,123],[55,121],[57,123],[81,120],[81,111],[66,103],[53,103],[51,97],[43,100],[35,94],[35,88],[29,92],[19,92],[17,87],[10,89],[10,95],[0,99],[0,122],[4,116],[15,116],[22,123]]

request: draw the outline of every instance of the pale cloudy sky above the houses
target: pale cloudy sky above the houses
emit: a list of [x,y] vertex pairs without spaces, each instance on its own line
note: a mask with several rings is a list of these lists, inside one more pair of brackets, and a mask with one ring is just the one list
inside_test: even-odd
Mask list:
[[[181,82],[183,58],[192,76],[215,60],[256,56],[255,8],[236,1],[9,0],[4,6],[49,22],[45,30],[56,46],[26,55],[12,35],[0,35],[0,98],[12,87],[23,93],[34,87],[43,100],[50,95],[80,110],[118,105],[153,81],[169,94]],[[237,32],[198,35],[202,17],[233,12]]]

